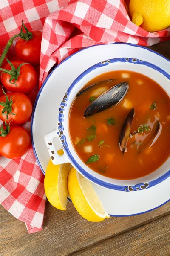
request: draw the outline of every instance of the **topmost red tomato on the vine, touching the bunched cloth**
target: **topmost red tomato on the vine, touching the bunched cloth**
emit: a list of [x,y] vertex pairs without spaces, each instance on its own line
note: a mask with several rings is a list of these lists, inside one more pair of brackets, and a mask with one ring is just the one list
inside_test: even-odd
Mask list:
[[28,41],[20,38],[16,43],[15,51],[21,60],[38,65],[40,64],[42,32],[31,32],[33,38]]

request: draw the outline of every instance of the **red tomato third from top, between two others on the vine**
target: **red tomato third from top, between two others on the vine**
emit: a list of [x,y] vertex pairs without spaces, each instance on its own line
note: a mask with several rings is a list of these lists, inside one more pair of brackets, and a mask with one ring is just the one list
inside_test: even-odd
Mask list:
[[[28,96],[26,96],[23,93],[7,93],[6,95],[8,97],[9,102],[10,99],[13,102],[11,105],[11,113],[15,115],[8,115],[8,121],[11,122],[11,125],[20,125],[27,122],[28,119],[31,117],[32,113],[32,104]],[[0,97],[0,102],[6,102],[5,95]],[[0,119],[3,122],[5,122],[7,116],[2,114],[3,109],[4,107],[0,105]]]

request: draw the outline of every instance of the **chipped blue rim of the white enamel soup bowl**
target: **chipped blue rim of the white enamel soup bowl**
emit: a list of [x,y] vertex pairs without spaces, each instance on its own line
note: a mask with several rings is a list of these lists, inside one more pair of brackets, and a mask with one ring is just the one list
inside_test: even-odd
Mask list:
[[[88,178],[89,180],[91,180],[92,182],[103,186],[105,188],[108,189],[116,189],[116,190],[120,190],[120,191],[136,191],[136,190],[142,190],[142,189],[147,189],[150,188],[152,186],[155,186],[156,184],[159,184],[160,182],[162,182],[163,180],[167,179],[167,177],[170,176],[170,170],[167,171],[164,175],[162,175],[161,177],[158,177],[155,180],[151,180],[150,182],[146,182],[146,183],[138,183],[136,185],[127,185],[127,186],[123,186],[123,185],[115,185],[115,184],[111,184],[108,183],[106,181],[100,180],[99,178],[94,177],[93,175],[89,174],[85,169],[82,168],[81,165],[79,165],[79,163],[77,163],[77,161],[74,159],[74,157],[71,154],[70,149],[68,148],[68,144],[67,144],[67,139],[66,136],[64,134],[64,125],[60,124],[64,122],[64,116],[65,116],[65,109],[67,106],[67,102],[69,101],[69,96],[71,91],[73,90],[73,88],[77,85],[77,83],[79,81],[81,81],[82,78],[84,78],[88,73],[91,73],[91,71],[96,70],[98,68],[101,67],[105,67],[108,66],[112,63],[130,63],[130,64],[139,64],[139,65],[144,65],[147,67],[152,68],[153,70],[158,71],[159,73],[163,74],[167,79],[170,80],[170,75],[167,74],[164,70],[162,70],[161,68],[157,67],[154,64],[151,64],[150,62],[147,61],[142,61],[136,58],[113,58],[113,59],[109,59],[107,61],[102,61],[99,62],[91,67],[89,67],[87,70],[85,70],[82,74],[80,74],[71,84],[71,86],[68,88],[65,97],[63,98],[64,101],[62,100],[61,104],[60,104],[60,108],[59,108],[59,117],[58,117],[58,134],[61,140],[61,144],[62,144],[62,148],[65,150],[65,153],[67,154],[68,159],[71,161],[71,163],[75,166],[75,168],[86,178]],[[144,178],[144,177],[143,177]],[[128,183],[128,180],[127,180]]]

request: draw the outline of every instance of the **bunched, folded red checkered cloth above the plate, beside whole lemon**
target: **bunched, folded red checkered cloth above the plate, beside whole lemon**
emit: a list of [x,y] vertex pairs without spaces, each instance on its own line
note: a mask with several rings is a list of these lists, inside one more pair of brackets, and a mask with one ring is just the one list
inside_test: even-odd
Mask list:
[[[125,0],[129,3],[129,0]],[[147,32],[130,21],[123,0],[71,0],[45,20],[40,85],[54,64],[94,44],[125,42],[150,46],[170,39],[170,27]]]

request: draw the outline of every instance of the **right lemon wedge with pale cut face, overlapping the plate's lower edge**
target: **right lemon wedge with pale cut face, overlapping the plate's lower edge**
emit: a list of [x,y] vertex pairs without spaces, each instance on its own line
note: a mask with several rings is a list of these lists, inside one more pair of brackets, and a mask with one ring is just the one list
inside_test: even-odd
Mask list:
[[68,192],[74,207],[83,218],[92,222],[110,218],[91,182],[80,175],[74,167],[71,168],[68,175]]

